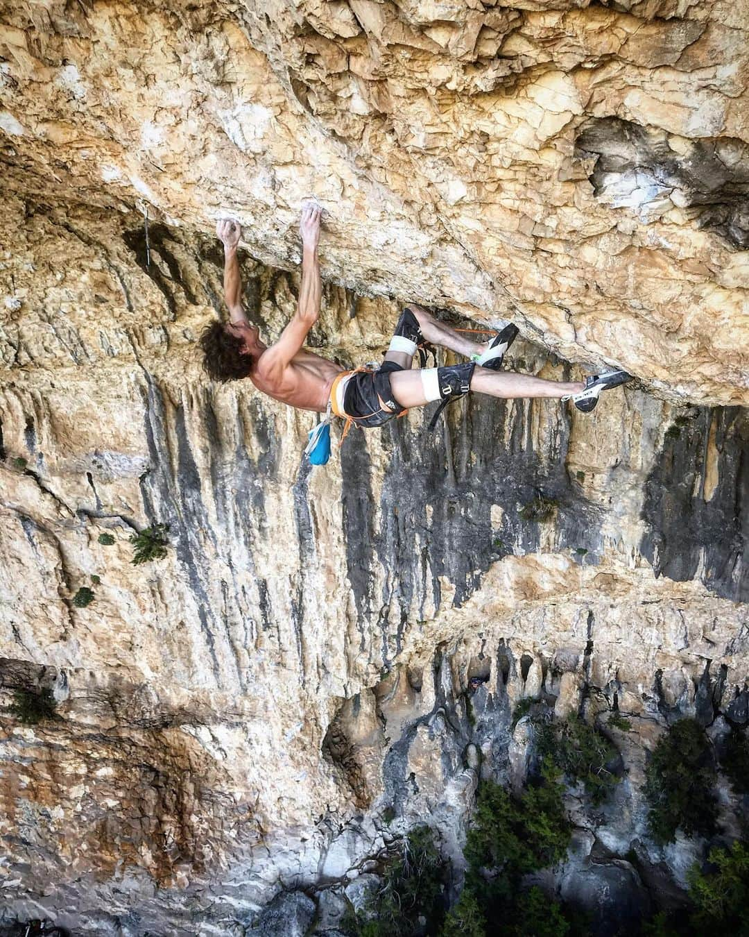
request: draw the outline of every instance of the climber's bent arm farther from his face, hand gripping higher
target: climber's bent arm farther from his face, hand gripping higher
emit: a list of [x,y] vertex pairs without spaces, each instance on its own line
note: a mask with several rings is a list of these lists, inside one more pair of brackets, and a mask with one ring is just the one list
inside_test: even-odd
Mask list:
[[320,215],[322,209],[312,203],[301,210],[301,287],[297,311],[288,323],[281,337],[263,355],[263,368],[284,368],[295,354],[301,350],[310,329],[320,315],[322,301],[322,282],[320,281],[320,263],[317,259],[317,243],[320,238]]

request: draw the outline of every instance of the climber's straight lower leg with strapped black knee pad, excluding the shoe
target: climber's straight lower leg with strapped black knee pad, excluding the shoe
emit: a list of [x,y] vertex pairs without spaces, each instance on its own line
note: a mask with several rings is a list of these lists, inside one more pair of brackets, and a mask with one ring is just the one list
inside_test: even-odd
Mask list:
[[[470,369],[473,368],[473,374]],[[390,375],[392,395],[404,408],[423,407],[447,396],[462,396],[463,388],[477,394],[513,399],[518,397],[563,397],[580,394],[582,381],[545,380],[528,374],[491,371],[474,364],[451,364]]]

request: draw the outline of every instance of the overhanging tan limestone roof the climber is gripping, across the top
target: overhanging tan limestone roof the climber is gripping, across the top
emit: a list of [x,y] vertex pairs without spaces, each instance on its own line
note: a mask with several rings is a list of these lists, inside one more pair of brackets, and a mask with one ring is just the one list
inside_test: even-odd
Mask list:
[[[6,185],[746,402],[745,3],[7,5]],[[737,248],[739,248],[737,250]]]

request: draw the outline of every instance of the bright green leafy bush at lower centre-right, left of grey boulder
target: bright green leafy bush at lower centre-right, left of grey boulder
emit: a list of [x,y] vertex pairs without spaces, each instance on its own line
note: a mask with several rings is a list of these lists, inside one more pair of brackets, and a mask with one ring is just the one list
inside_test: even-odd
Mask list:
[[547,763],[543,783],[529,787],[520,800],[499,784],[481,784],[463,852],[474,870],[517,877],[561,861],[569,841],[562,788]]

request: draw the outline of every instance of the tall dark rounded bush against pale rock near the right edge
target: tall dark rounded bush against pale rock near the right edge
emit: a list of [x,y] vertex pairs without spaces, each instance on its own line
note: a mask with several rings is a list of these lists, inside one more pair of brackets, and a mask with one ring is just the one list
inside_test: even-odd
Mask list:
[[680,720],[662,736],[645,769],[648,825],[656,842],[672,842],[677,829],[710,836],[717,806],[715,767],[708,737],[693,719]]

